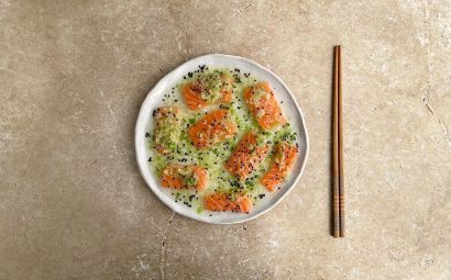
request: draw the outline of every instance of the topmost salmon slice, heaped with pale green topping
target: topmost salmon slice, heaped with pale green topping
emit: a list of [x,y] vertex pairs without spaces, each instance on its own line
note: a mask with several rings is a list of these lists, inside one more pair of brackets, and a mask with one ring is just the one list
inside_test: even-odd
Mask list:
[[189,109],[200,110],[210,104],[232,101],[232,85],[233,78],[227,72],[201,74],[182,88],[182,94]]

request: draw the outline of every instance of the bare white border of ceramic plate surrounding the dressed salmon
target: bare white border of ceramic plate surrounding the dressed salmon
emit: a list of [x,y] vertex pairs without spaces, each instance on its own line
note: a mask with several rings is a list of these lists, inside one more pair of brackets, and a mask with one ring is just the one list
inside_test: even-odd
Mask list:
[[[160,186],[160,179],[154,176],[147,163],[147,159],[151,156],[151,152],[147,148],[148,138],[145,137],[145,133],[152,131],[153,110],[162,105],[162,97],[165,93],[170,92],[172,88],[175,87],[176,83],[179,83],[183,80],[183,77],[187,75],[187,72],[198,69],[200,65],[207,65],[210,69],[239,68],[240,70],[242,70],[242,72],[250,72],[257,80],[268,81],[274,89],[277,100],[284,101],[283,104],[280,104],[282,110],[285,116],[288,119],[288,122],[292,124],[292,128],[298,134],[297,143],[299,144],[299,155],[296,165],[292,169],[288,180],[282,186],[280,190],[276,190],[272,192],[267,198],[265,198],[265,200],[258,201],[258,203],[256,203],[256,205],[249,214],[233,212],[211,213],[209,211],[204,211],[202,213],[198,214],[194,209],[175,202],[173,198],[168,195],[167,190]],[[178,66],[176,69],[163,77],[158,81],[158,83],[156,83],[156,86],[147,93],[147,97],[145,98],[138,116],[135,127],[135,149],[138,166],[140,167],[141,175],[143,176],[148,188],[151,188],[155,195],[158,197],[158,199],[166,205],[168,205],[180,215],[185,215],[206,223],[233,224],[255,219],[266,211],[273,209],[296,186],[300,178],[300,175],[302,173],[307,160],[308,136],[299,105],[297,104],[289,89],[280,80],[280,78],[278,78],[271,70],[250,59],[231,55],[210,54],[196,57]],[[212,215],[210,216],[210,214]]]

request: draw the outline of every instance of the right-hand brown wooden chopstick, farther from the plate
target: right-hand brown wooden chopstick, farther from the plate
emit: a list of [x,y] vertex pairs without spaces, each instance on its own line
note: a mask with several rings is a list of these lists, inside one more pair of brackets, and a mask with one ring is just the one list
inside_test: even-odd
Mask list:
[[338,48],[338,143],[339,143],[339,213],[340,213],[340,237],[344,237],[344,147],[343,147],[343,98],[341,75],[341,46]]

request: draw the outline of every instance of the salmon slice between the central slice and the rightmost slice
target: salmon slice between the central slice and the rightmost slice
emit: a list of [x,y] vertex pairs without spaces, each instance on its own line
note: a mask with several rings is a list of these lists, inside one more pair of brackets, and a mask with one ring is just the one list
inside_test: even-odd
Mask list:
[[232,156],[226,161],[226,169],[240,180],[245,180],[268,153],[268,146],[257,145],[256,137],[253,132],[244,134]]

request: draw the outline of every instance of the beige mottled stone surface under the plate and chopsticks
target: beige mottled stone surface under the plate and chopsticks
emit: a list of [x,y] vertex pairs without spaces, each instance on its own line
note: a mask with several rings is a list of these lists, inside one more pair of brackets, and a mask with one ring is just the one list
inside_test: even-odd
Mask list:
[[[343,45],[348,236],[330,221]],[[227,53],[310,133],[297,188],[242,225],[174,215],[133,131],[155,82]],[[0,279],[451,279],[451,2],[0,1]]]

